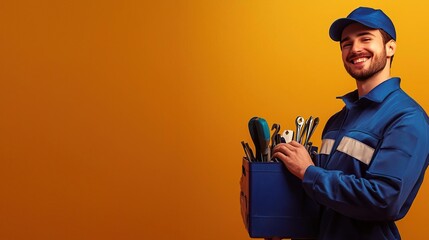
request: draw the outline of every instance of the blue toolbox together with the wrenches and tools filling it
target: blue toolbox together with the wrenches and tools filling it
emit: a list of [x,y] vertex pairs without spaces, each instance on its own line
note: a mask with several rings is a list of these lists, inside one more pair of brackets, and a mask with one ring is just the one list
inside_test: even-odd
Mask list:
[[282,134],[280,124],[273,124],[271,137],[265,119],[253,117],[248,123],[256,154],[248,143],[241,142],[245,157],[242,160],[240,205],[244,225],[252,238],[317,236],[318,205],[306,195],[299,178],[282,162],[270,158],[274,146],[292,140],[303,144],[312,158],[316,157],[317,148],[312,146],[310,138],[319,118],[310,117],[305,121],[298,116],[295,122],[295,132],[285,130]]

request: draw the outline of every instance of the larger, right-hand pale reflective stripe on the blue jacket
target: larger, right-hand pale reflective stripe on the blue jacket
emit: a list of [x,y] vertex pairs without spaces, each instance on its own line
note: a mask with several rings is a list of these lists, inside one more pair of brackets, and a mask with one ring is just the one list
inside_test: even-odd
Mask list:
[[372,155],[374,154],[374,148],[350,137],[343,137],[337,150],[356,158],[366,165],[371,162]]

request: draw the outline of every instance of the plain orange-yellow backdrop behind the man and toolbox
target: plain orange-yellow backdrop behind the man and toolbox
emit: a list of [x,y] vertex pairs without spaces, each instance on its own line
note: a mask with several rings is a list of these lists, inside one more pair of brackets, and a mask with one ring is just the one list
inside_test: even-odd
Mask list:
[[429,109],[425,1],[3,1],[0,239],[249,239],[247,121],[319,116],[320,143],[355,89],[328,28],[360,5],[394,20],[392,74]]

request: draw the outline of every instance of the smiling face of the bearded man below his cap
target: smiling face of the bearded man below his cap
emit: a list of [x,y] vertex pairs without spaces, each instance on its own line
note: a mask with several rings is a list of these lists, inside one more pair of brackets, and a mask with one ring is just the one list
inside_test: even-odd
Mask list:
[[347,26],[341,35],[344,67],[358,81],[365,81],[386,67],[386,48],[379,30],[359,23]]

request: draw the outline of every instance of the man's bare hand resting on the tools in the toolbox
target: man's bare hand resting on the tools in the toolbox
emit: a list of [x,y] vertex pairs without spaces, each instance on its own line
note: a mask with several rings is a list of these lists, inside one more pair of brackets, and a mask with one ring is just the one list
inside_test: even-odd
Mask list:
[[281,160],[300,179],[304,178],[307,168],[314,165],[305,147],[296,141],[278,144],[274,147],[272,157]]

